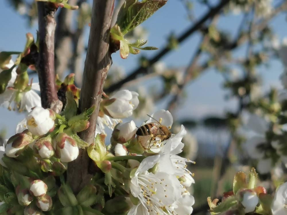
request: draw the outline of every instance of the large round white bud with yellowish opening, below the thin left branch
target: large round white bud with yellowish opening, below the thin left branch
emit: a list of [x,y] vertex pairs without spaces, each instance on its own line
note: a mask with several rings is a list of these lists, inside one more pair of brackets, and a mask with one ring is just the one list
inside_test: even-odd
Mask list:
[[42,136],[54,128],[54,119],[52,110],[35,107],[26,116],[28,130],[36,136]]

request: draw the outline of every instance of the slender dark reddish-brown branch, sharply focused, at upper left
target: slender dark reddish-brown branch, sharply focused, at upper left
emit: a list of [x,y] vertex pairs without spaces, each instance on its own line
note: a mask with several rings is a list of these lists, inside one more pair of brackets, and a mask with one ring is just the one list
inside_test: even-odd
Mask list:
[[51,108],[56,112],[62,110],[62,102],[58,99],[55,85],[54,43],[55,43],[55,12],[52,3],[38,2],[39,25],[39,56],[37,71],[39,76],[42,107]]

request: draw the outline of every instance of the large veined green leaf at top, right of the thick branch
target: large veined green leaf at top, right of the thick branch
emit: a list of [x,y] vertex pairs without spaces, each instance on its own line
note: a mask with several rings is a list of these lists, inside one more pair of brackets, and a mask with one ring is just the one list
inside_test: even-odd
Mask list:
[[125,35],[153,15],[167,0],[126,0],[121,7],[117,24]]

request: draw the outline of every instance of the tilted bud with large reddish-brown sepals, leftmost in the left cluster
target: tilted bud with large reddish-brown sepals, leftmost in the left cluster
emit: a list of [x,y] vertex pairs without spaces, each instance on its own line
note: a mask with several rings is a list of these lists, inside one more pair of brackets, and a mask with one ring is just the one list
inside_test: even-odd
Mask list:
[[24,130],[9,138],[6,144],[5,153],[8,157],[17,157],[24,150],[25,146],[33,141],[32,134],[28,130]]

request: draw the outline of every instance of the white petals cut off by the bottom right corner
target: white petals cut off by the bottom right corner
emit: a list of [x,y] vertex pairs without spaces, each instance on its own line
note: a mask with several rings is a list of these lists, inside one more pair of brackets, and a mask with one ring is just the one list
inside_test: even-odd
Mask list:
[[287,214],[287,182],[280,185],[276,189],[274,200],[272,202],[272,215],[286,215]]

